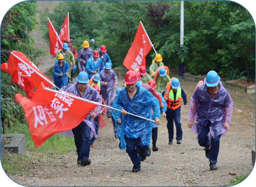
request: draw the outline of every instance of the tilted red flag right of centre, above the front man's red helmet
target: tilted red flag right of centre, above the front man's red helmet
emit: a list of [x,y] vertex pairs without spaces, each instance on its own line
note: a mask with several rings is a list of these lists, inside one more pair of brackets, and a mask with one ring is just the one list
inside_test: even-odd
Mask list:
[[129,70],[136,70],[141,66],[145,66],[146,56],[151,50],[152,46],[153,44],[140,21],[136,36],[124,59],[123,65]]

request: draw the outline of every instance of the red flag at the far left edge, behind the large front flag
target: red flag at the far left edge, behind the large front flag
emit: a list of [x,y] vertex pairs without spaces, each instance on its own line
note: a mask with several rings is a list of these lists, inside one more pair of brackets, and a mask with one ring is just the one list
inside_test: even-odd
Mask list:
[[[51,80],[47,78],[43,73],[39,71],[36,65],[29,61],[27,56],[25,56],[21,52],[17,52],[15,50],[12,51],[13,54],[9,55],[8,64],[2,63],[1,70],[12,75],[12,81],[14,83],[19,84],[25,91],[27,98],[31,99],[34,94],[34,88],[38,86],[39,83],[43,82],[46,86],[52,87],[50,83]],[[47,79],[49,82],[40,77],[36,72],[34,72],[27,65],[22,63],[19,59],[27,63],[30,67],[32,67],[35,71],[37,71],[41,76]],[[53,84],[53,83],[52,83]]]

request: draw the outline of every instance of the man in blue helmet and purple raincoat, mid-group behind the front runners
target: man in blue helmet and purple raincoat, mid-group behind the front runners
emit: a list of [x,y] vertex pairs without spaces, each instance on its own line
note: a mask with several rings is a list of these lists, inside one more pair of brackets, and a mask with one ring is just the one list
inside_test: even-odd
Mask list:
[[[114,96],[114,89],[117,88],[117,76],[116,73],[111,70],[110,63],[105,64],[103,70],[100,72],[100,77],[102,98],[108,105],[110,99]],[[111,114],[109,112],[107,113],[108,118],[111,118]]]

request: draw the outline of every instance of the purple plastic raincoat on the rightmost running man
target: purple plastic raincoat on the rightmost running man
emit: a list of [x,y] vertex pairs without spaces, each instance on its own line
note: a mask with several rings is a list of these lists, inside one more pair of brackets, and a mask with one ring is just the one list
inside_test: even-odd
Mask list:
[[189,105],[188,120],[193,122],[195,119],[196,121],[191,130],[199,135],[204,126],[204,121],[208,119],[212,123],[208,133],[209,139],[213,139],[219,134],[225,136],[227,130],[224,123],[231,123],[233,101],[227,90],[222,86],[221,81],[219,81],[219,85],[219,91],[211,98],[204,81],[193,93]]

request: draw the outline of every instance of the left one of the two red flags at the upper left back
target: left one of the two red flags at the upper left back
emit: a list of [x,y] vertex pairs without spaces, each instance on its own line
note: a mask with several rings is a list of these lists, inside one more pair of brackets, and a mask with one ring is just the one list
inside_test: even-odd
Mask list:
[[58,51],[62,49],[62,43],[49,17],[47,18],[48,18],[48,27],[49,27],[50,54],[53,56],[56,56]]

